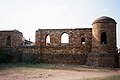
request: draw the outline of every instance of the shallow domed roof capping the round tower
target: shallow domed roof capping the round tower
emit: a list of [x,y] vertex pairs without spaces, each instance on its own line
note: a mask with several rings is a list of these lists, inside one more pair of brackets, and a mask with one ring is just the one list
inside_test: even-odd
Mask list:
[[116,21],[110,17],[102,16],[93,21],[94,23],[116,23]]

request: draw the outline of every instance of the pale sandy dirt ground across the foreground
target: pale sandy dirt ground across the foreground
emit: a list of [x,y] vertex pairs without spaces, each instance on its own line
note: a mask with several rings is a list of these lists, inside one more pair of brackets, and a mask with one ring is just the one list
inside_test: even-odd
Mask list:
[[41,68],[11,68],[0,70],[0,80],[78,80],[120,74],[120,70],[64,70]]

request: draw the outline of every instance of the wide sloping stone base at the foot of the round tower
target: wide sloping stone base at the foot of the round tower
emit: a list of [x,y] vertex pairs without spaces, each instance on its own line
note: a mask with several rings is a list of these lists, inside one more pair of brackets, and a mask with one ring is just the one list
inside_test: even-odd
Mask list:
[[86,65],[95,67],[118,67],[119,61],[117,57],[115,54],[108,52],[91,52],[88,54]]

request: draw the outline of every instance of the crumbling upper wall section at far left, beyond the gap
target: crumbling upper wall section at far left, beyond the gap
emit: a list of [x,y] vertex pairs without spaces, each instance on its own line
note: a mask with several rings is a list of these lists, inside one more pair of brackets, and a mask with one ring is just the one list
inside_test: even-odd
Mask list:
[[22,46],[22,38],[23,35],[18,30],[0,31],[0,48]]

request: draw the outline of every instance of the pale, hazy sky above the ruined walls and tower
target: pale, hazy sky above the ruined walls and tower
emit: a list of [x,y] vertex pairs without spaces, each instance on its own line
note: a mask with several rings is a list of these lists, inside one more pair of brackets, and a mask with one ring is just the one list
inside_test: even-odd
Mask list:
[[116,20],[120,48],[120,0],[0,0],[0,30],[17,29],[31,41],[38,29],[92,28],[100,16]]

